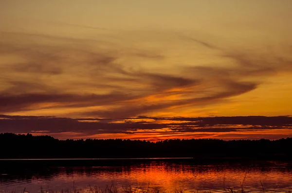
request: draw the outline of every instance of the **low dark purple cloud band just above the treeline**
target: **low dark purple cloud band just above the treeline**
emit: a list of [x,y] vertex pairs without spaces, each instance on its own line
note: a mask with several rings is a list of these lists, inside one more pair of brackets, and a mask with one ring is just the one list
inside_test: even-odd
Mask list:
[[[135,120],[144,120],[136,122]],[[167,121],[167,123],[164,123]],[[277,131],[273,136],[270,131]],[[268,132],[272,139],[276,136],[292,136],[292,117],[176,117],[158,118],[140,116],[122,120],[59,118],[47,116],[0,115],[0,132],[48,134],[64,139],[68,133],[74,138],[127,138],[139,137],[164,139],[165,136],[193,138],[196,135],[206,138],[230,139],[242,135],[254,136],[253,132]],[[226,134],[228,133],[228,135]],[[123,136],[124,135],[124,136]],[[278,139],[278,138],[277,138]]]

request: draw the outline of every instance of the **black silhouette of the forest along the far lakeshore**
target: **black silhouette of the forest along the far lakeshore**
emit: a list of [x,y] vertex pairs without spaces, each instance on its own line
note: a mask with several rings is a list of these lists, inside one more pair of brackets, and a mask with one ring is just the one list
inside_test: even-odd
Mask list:
[[279,140],[189,139],[58,140],[51,136],[0,134],[0,158],[256,158],[291,159],[292,138]]

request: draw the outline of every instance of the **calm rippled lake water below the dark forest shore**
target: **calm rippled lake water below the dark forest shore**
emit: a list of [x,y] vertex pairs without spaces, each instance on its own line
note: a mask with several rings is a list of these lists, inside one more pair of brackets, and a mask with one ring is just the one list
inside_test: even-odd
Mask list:
[[192,159],[0,160],[0,192],[68,189],[107,185],[160,192],[251,192],[292,190],[292,164],[275,161],[195,162]]

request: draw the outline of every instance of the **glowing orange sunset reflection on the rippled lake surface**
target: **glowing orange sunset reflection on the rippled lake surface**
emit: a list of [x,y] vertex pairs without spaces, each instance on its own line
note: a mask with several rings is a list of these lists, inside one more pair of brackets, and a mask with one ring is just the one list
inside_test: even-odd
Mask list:
[[188,165],[155,161],[123,167],[98,167],[95,172],[91,171],[91,175],[86,172],[82,175],[76,173],[74,179],[88,180],[87,184],[100,180],[100,184],[108,181],[120,187],[146,189],[149,186],[166,193],[173,193],[175,190],[222,192],[227,187],[239,190],[243,180],[246,191],[262,190],[262,185],[266,190],[275,187],[278,187],[277,190],[291,190],[291,171],[289,168],[274,165]]

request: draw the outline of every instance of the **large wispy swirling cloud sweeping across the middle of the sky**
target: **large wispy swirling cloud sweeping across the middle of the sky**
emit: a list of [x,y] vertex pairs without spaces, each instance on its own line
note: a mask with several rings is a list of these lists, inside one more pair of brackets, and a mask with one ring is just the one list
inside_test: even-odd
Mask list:
[[[256,90],[276,74],[292,72],[289,57],[220,49],[192,37],[181,41],[216,50],[230,65],[147,70],[127,63],[128,56],[133,60],[138,55],[149,63],[165,62],[167,56],[120,44],[113,49],[110,40],[1,34],[2,56],[14,55],[16,60],[8,58],[0,65],[5,72],[0,77],[3,114],[63,108],[59,116],[123,119],[186,106],[198,109]],[[102,46],[96,46],[98,42]]]

